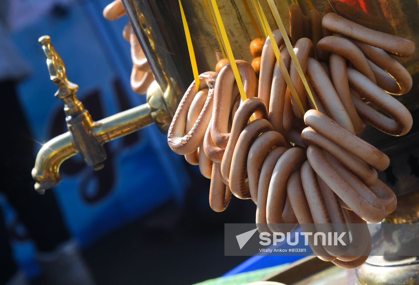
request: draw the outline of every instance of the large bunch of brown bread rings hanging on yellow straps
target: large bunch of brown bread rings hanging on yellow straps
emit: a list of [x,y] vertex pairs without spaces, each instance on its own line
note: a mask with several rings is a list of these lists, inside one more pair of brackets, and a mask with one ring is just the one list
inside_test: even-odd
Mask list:
[[[304,116],[270,39],[263,47],[251,44],[260,66],[255,60],[254,69],[236,60],[247,100],[241,102],[225,60],[217,64],[218,73],[199,76],[199,92],[195,83],[186,91],[169,128],[168,144],[211,178],[209,204],[214,211],[225,210],[232,194],[250,198],[257,205],[260,230],[275,231],[275,224],[296,222],[366,227],[366,222],[378,223],[396,208],[396,196],[376,172],[388,167],[389,158],[357,134],[366,123],[395,136],[410,130],[409,110],[391,94],[409,92],[412,79],[390,54],[410,56],[414,43],[334,13],[323,17],[322,29],[334,35],[320,37],[315,47],[308,38],[292,37],[317,110],[281,33],[273,31]],[[249,123],[252,114],[255,120]],[[368,230],[361,230],[361,236],[362,255],[310,245],[319,258],[354,268],[365,262],[371,249]]]

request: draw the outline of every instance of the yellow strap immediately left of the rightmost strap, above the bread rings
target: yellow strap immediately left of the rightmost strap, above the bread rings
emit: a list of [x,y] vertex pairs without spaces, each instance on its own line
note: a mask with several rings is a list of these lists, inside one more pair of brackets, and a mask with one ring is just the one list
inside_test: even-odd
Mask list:
[[279,51],[279,48],[277,46],[277,42],[275,41],[274,35],[272,34],[271,27],[269,26],[269,23],[266,20],[265,13],[262,10],[262,7],[260,6],[259,0],[257,0],[257,1],[258,1],[259,8],[261,10],[261,15],[262,15],[262,20],[264,21],[264,26],[266,27],[266,31],[268,33],[269,39],[270,39],[272,47],[274,49],[275,56],[277,58],[277,62],[279,64],[279,69],[281,70],[281,73],[282,73],[282,76],[284,77],[285,83],[287,83],[287,86],[290,89],[291,95],[294,98],[295,103],[297,103],[298,108],[300,109],[301,113],[304,116],[305,111],[304,111],[303,105],[301,105],[300,97],[298,97],[297,90],[295,90],[294,84],[292,84],[290,74],[288,73],[287,67],[285,67],[284,60],[281,57],[281,52]]

